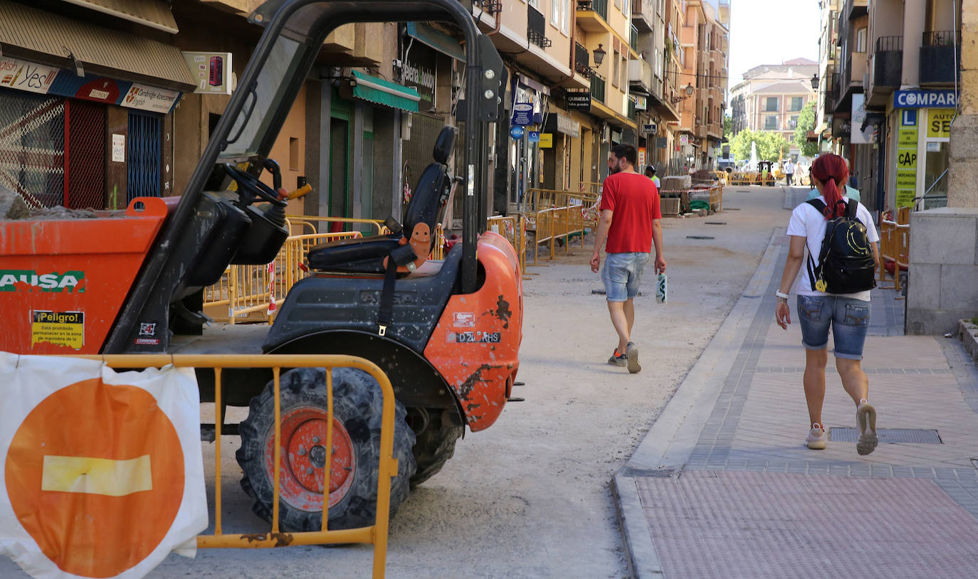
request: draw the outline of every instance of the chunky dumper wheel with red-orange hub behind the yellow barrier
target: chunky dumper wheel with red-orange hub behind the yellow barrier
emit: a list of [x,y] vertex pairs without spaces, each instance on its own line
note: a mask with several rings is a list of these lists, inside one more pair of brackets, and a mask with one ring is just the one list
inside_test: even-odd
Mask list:
[[[283,531],[318,531],[322,526],[327,427],[326,371],[296,368],[281,378],[282,454],[279,526]],[[238,464],[252,511],[270,521],[275,438],[274,386],[251,400],[241,423]],[[373,525],[377,515],[378,460],[383,397],[377,380],[360,370],[333,370],[333,468],[330,476],[330,529]],[[390,515],[407,498],[417,468],[415,434],[395,401],[394,459]]]

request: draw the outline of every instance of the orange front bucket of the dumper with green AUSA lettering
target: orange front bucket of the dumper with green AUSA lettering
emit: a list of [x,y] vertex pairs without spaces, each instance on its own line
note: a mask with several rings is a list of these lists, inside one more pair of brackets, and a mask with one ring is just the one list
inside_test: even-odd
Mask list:
[[[99,353],[166,212],[138,198],[95,218],[0,221],[0,351]],[[141,338],[158,339],[166,323]]]

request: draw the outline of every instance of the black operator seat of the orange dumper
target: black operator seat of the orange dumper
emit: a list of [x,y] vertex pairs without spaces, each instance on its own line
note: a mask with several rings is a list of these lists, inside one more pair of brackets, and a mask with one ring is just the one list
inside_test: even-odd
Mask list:
[[[424,169],[421,179],[418,180],[415,195],[408,202],[403,233],[315,245],[309,249],[307,256],[309,269],[338,273],[382,274],[384,259],[400,245],[409,243],[415,248],[417,258],[426,258],[432,244],[436,241],[435,222],[438,219],[438,212],[448,200],[451,180],[448,177],[447,164],[449,157],[452,156],[455,134],[456,128],[453,126],[443,127],[438,134],[432,153],[435,162]],[[423,251],[423,255],[419,254],[420,251]]]

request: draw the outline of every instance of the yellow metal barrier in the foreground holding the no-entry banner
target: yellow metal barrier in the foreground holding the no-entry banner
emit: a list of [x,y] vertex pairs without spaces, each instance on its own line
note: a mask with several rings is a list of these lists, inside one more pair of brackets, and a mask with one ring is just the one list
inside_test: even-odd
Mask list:
[[[214,424],[217,441],[214,445],[214,534],[199,535],[199,549],[263,549],[269,547],[289,547],[293,545],[330,545],[340,543],[367,543],[374,545],[375,579],[383,577],[387,557],[387,529],[390,517],[390,478],[397,473],[397,460],[394,459],[394,390],[390,379],[376,364],[364,358],[346,355],[281,355],[268,354],[252,356],[246,354],[194,355],[194,354],[149,354],[149,355],[105,355],[77,356],[90,360],[101,360],[111,368],[162,368],[172,364],[177,368],[212,368],[214,370]],[[275,475],[272,489],[272,528],[267,533],[225,534],[221,526],[224,512],[221,502],[221,399],[224,385],[221,383],[221,370],[224,368],[271,368],[275,397]],[[282,477],[282,409],[281,373],[283,368],[325,368],[327,412],[326,421],[326,465],[324,480],[330,480],[329,468],[333,466],[333,368],[356,368],[371,375],[378,381],[383,393],[380,423],[380,459],[378,464],[377,517],[374,524],[358,529],[329,530],[330,493],[323,493],[323,521],[319,531],[284,533],[279,528],[280,479]],[[231,386],[233,387],[233,385]]]

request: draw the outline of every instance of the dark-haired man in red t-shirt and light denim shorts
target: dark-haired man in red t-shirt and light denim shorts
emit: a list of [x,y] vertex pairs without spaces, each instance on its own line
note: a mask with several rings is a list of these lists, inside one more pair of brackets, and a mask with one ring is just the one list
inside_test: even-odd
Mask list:
[[591,271],[598,272],[600,250],[605,238],[607,253],[601,281],[611,314],[611,324],[618,333],[618,347],[608,359],[613,366],[628,367],[635,374],[639,365],[639,348],[631,341],[635,326],[635,304],[648,254],[655,245],[655,272],[666,271],[662,247],[662,209],[659,193],[645,175],[635,172],[635,147],[619,145],[612,152],[615,172],[604,180],[601,193],[601,217],[595,234],[595,252]]

